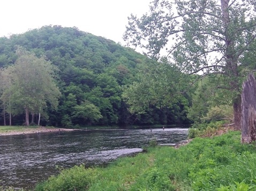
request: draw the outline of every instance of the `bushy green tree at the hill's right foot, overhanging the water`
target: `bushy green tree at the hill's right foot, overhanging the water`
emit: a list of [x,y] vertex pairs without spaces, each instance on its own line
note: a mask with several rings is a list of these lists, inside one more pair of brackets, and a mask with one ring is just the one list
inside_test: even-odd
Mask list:
[[146,114],[152,106],[164,112],[167,107],[176,120],[185,121],[182,118],[186,118],[189,109],[187,90],[192,83],[191,76],[180,73],[166,59],[159,62],[148,59],[141,65],[141,73],[137,78],[123,92],[123,98],[130,105],[131,113]]

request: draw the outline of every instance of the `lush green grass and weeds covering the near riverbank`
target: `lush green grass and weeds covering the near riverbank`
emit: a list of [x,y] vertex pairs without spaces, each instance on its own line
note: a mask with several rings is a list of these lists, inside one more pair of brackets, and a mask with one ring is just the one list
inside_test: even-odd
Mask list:
[[75,166],[35,190],[256,190],[256,148],[240,133],[195,138],[179,149],[150,147],[107,168]]

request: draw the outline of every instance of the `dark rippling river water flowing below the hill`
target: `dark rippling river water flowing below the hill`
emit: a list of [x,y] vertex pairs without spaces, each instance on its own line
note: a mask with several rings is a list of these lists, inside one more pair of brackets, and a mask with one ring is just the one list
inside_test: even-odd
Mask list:
[[187,129],[129,129],[0,136],[0,186],[33,188],[74,165],[105,165],[142,152],[155,138],[160,145],[187,139]]

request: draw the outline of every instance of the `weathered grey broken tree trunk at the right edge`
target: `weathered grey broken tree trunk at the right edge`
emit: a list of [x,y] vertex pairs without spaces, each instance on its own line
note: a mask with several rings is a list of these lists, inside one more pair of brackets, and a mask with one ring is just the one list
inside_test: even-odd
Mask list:
[[253,74],[243,83],[241,142],[256,140],[256,81]]

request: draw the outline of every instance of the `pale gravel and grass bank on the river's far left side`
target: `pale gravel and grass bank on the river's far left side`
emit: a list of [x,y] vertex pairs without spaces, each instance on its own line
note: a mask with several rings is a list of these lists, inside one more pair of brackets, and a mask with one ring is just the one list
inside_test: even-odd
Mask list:
[[44,126],[0,126],[0,136],[12,136],[16,134],[32,134],[57,131],[74,131],[76,129],[63,129]]

